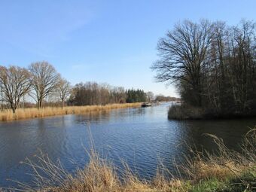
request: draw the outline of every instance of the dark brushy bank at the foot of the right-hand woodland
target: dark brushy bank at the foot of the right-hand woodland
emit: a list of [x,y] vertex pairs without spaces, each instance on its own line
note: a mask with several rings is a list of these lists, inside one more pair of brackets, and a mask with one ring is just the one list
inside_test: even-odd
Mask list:
[[211,109],[196,108],[189,105],[172,105],[169,107],[168,118],[172,120],[211,120],[256,117],[256,111],[239,113],[230,110],[229,112],[217,112]]

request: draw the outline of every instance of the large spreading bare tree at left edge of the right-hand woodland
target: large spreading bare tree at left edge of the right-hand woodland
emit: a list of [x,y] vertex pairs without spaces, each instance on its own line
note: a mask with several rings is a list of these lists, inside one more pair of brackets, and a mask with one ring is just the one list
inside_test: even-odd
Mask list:
[[212,41],[212,23],[202,20],[199,24],[185,20],[161,38],[157,49],[160,59],[151,69],[157,72],[159,82],[185,82],[195,105],[202,105],[202,70]]

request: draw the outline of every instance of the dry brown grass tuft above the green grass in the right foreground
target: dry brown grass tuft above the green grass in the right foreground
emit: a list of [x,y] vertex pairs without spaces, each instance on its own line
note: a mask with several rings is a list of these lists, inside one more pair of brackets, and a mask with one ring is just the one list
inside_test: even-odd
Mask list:
[[[229,178],[239,178],[248,169],[256,168],[256,128],[250,130],[243,138],[241,150],[231,151],[222,139],[206,134],[218,145],[215,154],[208,151],[200,152],[190,148],[193,158],[187,157],[184,165],[178,166],[192,182],[216,178],[224,181]],[[256,179],[256,178],[255,178]]]

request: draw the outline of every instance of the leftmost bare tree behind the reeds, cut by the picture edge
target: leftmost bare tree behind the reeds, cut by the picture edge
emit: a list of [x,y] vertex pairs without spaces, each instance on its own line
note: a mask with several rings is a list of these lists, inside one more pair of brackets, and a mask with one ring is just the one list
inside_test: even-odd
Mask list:
[[30,73],[24,68],[17,66],[0,66],[0,86],[5,99],[11,105],[12,111],[15,113],[20,99],[29,93]]

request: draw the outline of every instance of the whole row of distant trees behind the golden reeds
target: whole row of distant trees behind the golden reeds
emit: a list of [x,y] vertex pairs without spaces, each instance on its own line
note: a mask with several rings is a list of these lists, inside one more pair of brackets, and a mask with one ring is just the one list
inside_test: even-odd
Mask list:
[[[148,96],[154,96],[148,93]],[[108,84],[86,82],[71,86],[48,62],[33,62],[28,69],[0,66],[1,108],[16,109],[32,98],[38,108],[43,105],[106,105],[109,103],[146,102],[143,90],[124,90]],[[48,100],[48,102],[47,102]],[[50,102],[49,102],[50,101]],[[31,102],[30,102],[31,103]]]

